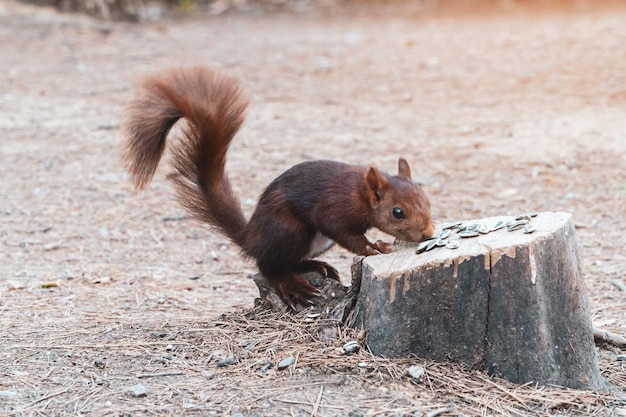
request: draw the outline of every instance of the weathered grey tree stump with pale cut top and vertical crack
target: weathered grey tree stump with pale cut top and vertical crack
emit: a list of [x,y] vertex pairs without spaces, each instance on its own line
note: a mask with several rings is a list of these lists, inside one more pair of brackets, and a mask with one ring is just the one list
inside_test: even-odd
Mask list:
[[458,249],[416,254],[413,244],[362,258],[348,324],[365,329],[380,356],[453,360],[517,383],[601,387],[571,215],[530,222],[532,233],[454,232]]

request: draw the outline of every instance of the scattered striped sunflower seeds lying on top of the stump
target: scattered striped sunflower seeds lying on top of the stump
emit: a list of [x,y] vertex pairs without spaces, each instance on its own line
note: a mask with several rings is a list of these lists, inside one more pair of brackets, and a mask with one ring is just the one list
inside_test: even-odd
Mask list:
[[440,247],[457,249],[459,246],[461,246],[461,243],[460,239],[451,239],[451,237],[453,237],[453,233],[454,236],[457,236],[461,239],[486,235],[487,233],[500,230],[503,227],[506,227],[506,230],[509,232],[523,228],[524,233],[532,233],[535,231],[535,226],[532,224],[532,219],[537,217],[538,214],[539,213],[537,213],[536,211],[529,211],[528,213],[519,214],[509,221],[498,220],[493,225],[487,225],[485,223],[451,223],[446,225],[441,233],[417,245],[416,252],[428,252],[434,248]]

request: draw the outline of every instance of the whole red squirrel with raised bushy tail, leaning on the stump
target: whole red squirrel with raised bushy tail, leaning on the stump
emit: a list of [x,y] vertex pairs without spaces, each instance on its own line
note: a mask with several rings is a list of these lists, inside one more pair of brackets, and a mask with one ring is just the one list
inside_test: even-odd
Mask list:
[[375,227],[406,241],[433,235],[430,202],[398,161],[398,175],[375,167],[316,160],[297,164],[265,189],[246,220],[224,170],[226,153],[244,121],[248,100],[238,81],[206,67],[174,68],[147,77],[130,103],[123,125],[124,161],[135,189],[150,182],[170,129],[185,119],[171,141],[178,200],[254,261],[290,307],[311,303],[318,290],[300,274],[339,273],[316,256],[337,243],[358,255],[389,253],[390,243],[370,242]]

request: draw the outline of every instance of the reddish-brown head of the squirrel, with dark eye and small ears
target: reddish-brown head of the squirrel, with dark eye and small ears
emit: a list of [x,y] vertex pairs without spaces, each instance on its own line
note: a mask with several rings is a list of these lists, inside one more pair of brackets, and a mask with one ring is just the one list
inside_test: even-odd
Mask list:
[[421,242],[433,236],[430,201],[422,187],[411,179],[411,168],[405,159],[398,160],[397,176],[370,167],[365,183],[372,226],[409,242]]

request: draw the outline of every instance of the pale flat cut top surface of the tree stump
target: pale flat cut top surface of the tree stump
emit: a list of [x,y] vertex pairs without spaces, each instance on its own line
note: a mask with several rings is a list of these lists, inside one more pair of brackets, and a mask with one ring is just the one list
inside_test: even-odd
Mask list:
[[[464,224],[479,223],[487,226],[495,225],[499,220],[508,222],[513,220],[515,216],[496,216],[479,220],[463,221]],[[448,249],[446,247],[437,247],[428,252],[416,253],[417,244],[401,242],[396,246],[398,250],[376,256],[368,256],[363,260],[363,266],[371,268],[374,272],[384,271],[385,273],[403,273],[417,268],[427,267],[428,265],[439,265],[446,262],[462,262],[470,257],[485,255],[486,262],[491,257],[508,254],[514,256],[517,246],[529,245],[532,242],[546,239],[553,235],[556,231],[566,227],[572,221],[572,215],[569,213],[552,213],[542,212],[531,220],[535,227],[533,233],[524,233],[522,229],[507,231],[506,226],[487,233],[479,234],[476,237],[460,238],[457,233],[453,232],[449,240],[458,240],[459,248]],[[444,227],[454,222],[442,222],[437,225],[435,236],[440,235]],[[493,261],[491,261],[493,262]],[[486,263],[486,268],[489,265]]]

